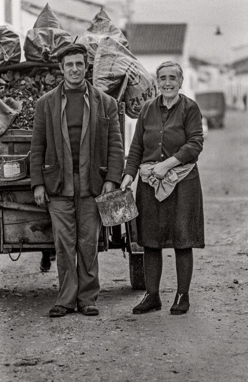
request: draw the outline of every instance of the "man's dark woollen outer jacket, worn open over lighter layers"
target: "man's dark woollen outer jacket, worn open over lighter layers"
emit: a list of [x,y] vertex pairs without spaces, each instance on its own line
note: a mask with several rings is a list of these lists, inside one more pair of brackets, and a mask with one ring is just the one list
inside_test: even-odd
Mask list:
[[[63,187],[61,95],[63,82],[36,103],[31,142],[31,187],[45,185],[49,195],[60,195]],[[87,82],[90,104],[90,193],[101,193],[105,181],[121,184],[124,150],[117,103]],[[81,150],[81,148],[80,148]]]

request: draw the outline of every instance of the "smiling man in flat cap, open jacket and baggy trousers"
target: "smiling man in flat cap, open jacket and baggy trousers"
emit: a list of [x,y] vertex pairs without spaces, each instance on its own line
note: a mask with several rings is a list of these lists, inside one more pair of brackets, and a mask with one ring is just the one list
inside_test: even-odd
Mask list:
[[59,295],[49,315],[77,307],[93,316],[100,290],[95,197],[120,185],[124,151],[115,99],[85,80],[85,46],[69,45],[57,58],[64,80],[36,104],[31,187],[53,225]]

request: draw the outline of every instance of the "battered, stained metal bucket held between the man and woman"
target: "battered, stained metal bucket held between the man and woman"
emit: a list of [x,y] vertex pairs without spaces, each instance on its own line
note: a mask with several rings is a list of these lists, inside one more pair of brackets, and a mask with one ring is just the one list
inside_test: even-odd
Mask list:
[[103,225],[106,227],[125,223],[138,216],[132,190],[129,187],[125,191],[118,188],[106,192],[95,200]]

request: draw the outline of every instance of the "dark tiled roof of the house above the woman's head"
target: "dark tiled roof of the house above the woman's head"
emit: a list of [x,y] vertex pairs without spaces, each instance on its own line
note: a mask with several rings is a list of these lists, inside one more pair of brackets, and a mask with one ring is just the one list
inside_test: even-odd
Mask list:
[[133,54],[182,54],[186,24],[127,24],[126,35]]

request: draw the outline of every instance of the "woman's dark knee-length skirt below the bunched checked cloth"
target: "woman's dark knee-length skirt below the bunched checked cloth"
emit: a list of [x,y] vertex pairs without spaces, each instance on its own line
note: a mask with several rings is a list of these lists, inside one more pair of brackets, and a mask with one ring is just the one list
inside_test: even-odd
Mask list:
[[[186,177],[187,178],[187,177]],[[204,217],[199,177],[181,180],[165,200],[138,178],[137,243],[151,248],[204,248]]]

